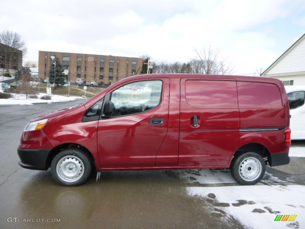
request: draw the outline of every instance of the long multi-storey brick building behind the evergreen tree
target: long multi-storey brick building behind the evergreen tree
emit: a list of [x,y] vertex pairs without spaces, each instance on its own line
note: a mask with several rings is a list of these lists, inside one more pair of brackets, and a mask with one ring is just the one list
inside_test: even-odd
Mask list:
[[55,56],[59,58],[67,80],[71,82],[82,78],[84,81],[94,80],[98,83],[110,84],[140,74],[143,65],[142,58],[39,51],[40,78],[46,79],[49,76]]

